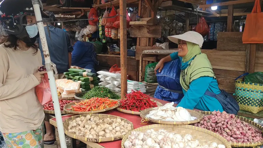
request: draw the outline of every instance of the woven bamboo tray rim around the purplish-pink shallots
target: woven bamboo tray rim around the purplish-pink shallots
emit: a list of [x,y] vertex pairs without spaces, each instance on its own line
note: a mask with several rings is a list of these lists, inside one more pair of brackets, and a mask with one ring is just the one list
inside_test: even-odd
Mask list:
[[[209,114],[212,114],[211,111],[199,111],[201,114],[203,115],[209,115]],[[252,121],[252,120],[249,120],[249,119],[246,119],[244,117],[241,117],[241,116],[237,116],[236,115],[236,118],[240,119],[240,120],[243,120],[245,122],[248,122],[250,126],[253,126],[254,128],[256,129],[260,129],[262,132],[263,132],[263,126],[261,126],[260,124],[257,124],[256,122]],[[258,141],[258,142],[252,142],[252,143],[248,143],[248,142],[231,142],[231,141],[228,141],[230,143],[231,146],[234,146],[234,147],[255,147],[255,146],[259,146],[259,145],[262,145],[263,144],[263,141]]]

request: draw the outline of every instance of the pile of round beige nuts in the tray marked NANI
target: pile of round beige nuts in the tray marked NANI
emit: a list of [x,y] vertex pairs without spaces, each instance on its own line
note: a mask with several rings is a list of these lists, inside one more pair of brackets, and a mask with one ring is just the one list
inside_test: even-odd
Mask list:
[[121,136],[128,133],[131,124],[124,120],[94,117],[87,115],[86,117],[76,118],[69,121],[68,131],[77,136],[87,138],[108,138]]

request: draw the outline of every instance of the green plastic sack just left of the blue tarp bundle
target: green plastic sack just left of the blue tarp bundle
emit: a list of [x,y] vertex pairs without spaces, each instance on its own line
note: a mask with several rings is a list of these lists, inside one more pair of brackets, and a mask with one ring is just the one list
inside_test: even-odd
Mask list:
[[150,63],[145,66],[144,81],[148,83],[157,83],[157,77],[154,73],[154,68],[158,62]]

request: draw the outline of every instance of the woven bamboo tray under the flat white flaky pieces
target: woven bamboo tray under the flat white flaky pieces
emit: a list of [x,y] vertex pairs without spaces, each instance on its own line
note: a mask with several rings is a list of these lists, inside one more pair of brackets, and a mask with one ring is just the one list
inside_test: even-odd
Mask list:
[[147,109],[141,111],[140,112],[141,118],[144,120],[159,123],[159,124],[193,124],[193,123],[197,123],[197,122],[200,122],[201,120],[203,120],[203,115],[200,114],[200,111],[194,111],[194,110],[189,110],[189,109],[186,109],[186,110],[190,113],[191,116],[196,117],[195,120],[191,120],[191,121],[164,121],[164,120],[154,120],[154,119],[145,117],[147,114],[149,114],[150,111],[154,110],[154,108],[155,107],[147,108]]

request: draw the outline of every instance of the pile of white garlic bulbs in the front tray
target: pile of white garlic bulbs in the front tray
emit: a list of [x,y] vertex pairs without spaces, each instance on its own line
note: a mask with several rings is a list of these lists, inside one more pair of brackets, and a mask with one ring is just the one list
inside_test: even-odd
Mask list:
[[125,148],[225,148],[222,144],[212,142],[208,144],[200,144],[198,140],[194,140],[192,135],[186,134],[182,137],[180,134],[168,132],[160,129],[154,131],[147,130],[145,133],[140,131],[132,131],[131,135],[124,142]]

